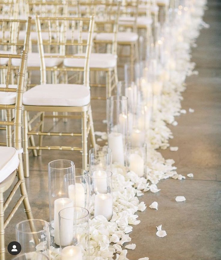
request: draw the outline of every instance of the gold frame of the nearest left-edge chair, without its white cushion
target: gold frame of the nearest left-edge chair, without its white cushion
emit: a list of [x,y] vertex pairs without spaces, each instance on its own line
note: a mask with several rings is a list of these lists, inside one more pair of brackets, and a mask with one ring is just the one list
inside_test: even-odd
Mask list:
[[[28,48],[29,35],[30,35],[30,19],[27,22],[24,49]],[[17,211],[18,207],[21,205],[22,202],[24,205],[24,210],[27,218],[33,219],[33,216],[32,216],[32,211],[31,211],[26,185],[25,185],[25,179],[24,179],[23,162],[22,162],[22,135],[21,135],[22,97],[23,97],[24,80],[25,80],[25,73],[26,73],[27,51],[23,50],[21,54],[0,54],[0,58],[8,58],[6,84],[5,84],[5,88],[0,88],[0,91],[17,93],[15,105],[0,105],[1,109],[15,110],[14,121],[8,121],[8,120],[0,121],[0,124],[3,124],[5,126],[14,126],[14,147],[18,151],[18,157],[20,160],[17,170],[11,173],[3,182],[0,183],[0,259],[5,260],[5,228],[8,225],[8,223],[11,221],[11,218],[14,216],[15,212]],[[11,73],[12,58],[20,59],[17,88],[8,87],[9,80],[10,80],[10,73]],[[13,183],[16,177],[16,174],[18,180],[4,203],[3,193],[6,190],[8,190],[8,188],[11,186],[11,184]],[[20,198],[18,199],[17,203],[15,204],[10,214],[4,221],[4,211],[6,208],[8,208],[8,205],[11,202],[18,188],[20,188]]]

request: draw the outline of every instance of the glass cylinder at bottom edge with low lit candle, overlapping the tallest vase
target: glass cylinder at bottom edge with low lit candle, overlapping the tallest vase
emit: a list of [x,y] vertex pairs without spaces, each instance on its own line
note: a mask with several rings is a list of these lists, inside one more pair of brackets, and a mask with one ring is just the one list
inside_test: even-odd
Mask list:
[[89,211],[70,207],[59,212],[61,260],[89,259]]

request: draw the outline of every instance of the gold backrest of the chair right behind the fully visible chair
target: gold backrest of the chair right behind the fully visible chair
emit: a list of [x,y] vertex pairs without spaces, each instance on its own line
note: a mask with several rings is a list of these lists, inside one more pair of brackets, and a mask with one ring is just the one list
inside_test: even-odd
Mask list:
[[[69,5],[70,6],[70,5]],[[120,1],[78,1],[77,10],[81,17],[95,16],[94,33],[112,33],[112,54],[117,54],[117,32],[120,15]],[[110,40],[95,43],[110,43]]]

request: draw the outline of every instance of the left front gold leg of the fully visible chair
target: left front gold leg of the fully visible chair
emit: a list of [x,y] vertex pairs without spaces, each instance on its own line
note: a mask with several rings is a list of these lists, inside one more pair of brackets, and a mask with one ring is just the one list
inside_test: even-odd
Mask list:
[[29,177],[29,151],[28,151],[28,118],[27,111],[23,110],[23,157],[24,157],[24,176]]

